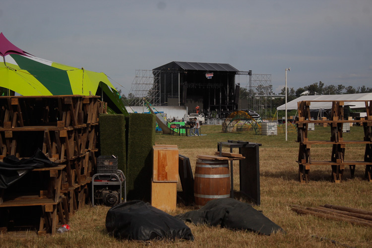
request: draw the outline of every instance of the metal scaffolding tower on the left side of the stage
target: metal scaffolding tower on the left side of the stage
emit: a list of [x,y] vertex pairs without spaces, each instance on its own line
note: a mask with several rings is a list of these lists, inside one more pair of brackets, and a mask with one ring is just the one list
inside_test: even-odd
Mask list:
[[160,80],[160,70],[135,70],[135,78],[130,89],[131,98],[129,104],[131,106],[142,106],[143,98],[153,106],[160,105],[160,89],[159,84],[154,84],[154,81]]

